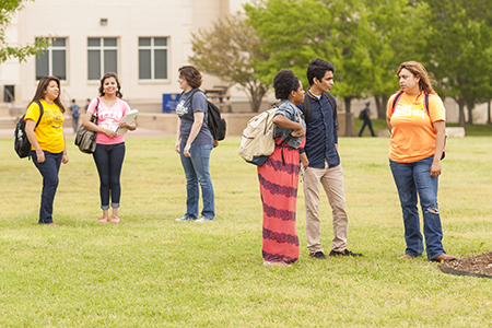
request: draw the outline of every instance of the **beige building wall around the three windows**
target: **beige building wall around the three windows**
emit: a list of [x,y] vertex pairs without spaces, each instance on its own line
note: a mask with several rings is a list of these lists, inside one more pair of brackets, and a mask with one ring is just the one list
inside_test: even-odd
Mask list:
[[[191,55],[191,33],[210,27],[231,11],[241,10],[244,0],[36,0],[24,2],[24,9],[8,27],[12,45],[33,43],[36,37],[67,39],[67,80],[62,81],[63,103],[98,94],[98,81],[87,79],[87,38],[116,37],[118,75],[124,97],[133,104],[156,106],[163,93],[179,93],[177,69]],[[102,24],[106,20],[107,24]],[[168,77],[166,80],[139,80],[139,37],[167,37]],[[15,86],[15,101],[28,102],[35,91],[36,59],[0,65],[0,87]],[[218,84],[216,78],[204,79],[203,87]],[[2,101],[2,99],[1,99]]]

